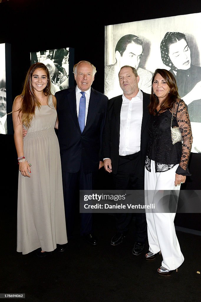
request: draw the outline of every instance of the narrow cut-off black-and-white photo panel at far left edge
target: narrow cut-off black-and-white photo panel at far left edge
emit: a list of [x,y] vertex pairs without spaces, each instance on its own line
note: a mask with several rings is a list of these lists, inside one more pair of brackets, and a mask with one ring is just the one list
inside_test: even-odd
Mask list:
[[7,134],[5,43],[0,44],[0,134]]

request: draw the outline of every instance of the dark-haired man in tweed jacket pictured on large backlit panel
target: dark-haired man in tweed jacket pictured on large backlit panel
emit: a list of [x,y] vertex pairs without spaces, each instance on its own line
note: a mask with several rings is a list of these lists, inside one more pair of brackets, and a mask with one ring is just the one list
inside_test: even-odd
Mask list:
[[115,47],[116,63],[105,66],[104,94],[109,99],[122,93],[118,73],[124,65],[132,66],[137,70],[139,75],[138,87],[146,93],[151,93],[152,73],[139,67],[142,55],[143,42],[139,37],[128,34],[120,38]]

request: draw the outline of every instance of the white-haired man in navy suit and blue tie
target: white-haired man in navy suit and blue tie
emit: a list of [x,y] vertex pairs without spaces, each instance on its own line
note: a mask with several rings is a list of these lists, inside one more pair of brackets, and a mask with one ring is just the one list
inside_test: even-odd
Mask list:
[[[108,98],[94,90],[96,68],[80,61],[73,68],[77,85],[56,92],[58,140],[60,146],[65,219],[68,240],[72,238],[75,208],[79,205],[79,190],[92,190],[101,161],[101,142]],[[85,93],[84,93],[85,92]],[[85,95],[84,130],[79,125],[79,104]],[[81,213],[81,236],[96,245],[92,214]]]

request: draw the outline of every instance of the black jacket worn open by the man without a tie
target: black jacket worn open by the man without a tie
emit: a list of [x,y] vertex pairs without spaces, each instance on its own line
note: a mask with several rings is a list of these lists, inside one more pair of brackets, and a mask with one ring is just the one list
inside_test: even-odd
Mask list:
[[[148,112],[148,104],[150,95],[143,94],[143,116],[141,127],[141,142],[140,142],[140,156],[141,156],[141,175],[144,175],[145,156],[148,144],[148,121],[150,118]],[[119,165],[119,142],[120,142],[120,112],[122,105],[122,95],[111,98],[108,101],[107,116],[103,131],[102,156],[103,158],[110,158],[112,161],[112,172],[117,173]],[[135,133],[133,133],[135,135]]]

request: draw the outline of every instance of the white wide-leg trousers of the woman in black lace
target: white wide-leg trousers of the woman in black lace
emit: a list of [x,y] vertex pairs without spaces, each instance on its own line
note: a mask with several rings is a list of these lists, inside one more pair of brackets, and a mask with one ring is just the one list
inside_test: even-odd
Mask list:
[[[180,185],[174,185],[177,167],[175,165],[166,172],[156,173],[155,162],[151,161],[151,172],[145,168],[145,204],[157,203],[158,193],[163,190],[175,190],[179,195]],[[184,261],[174,227],[175,214],[146,211],[149,251],[155,254],[161,251],[162,266],[169,270],[178,268]]]

